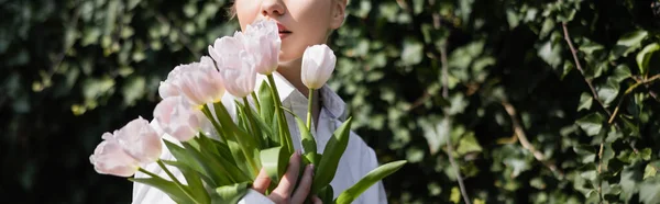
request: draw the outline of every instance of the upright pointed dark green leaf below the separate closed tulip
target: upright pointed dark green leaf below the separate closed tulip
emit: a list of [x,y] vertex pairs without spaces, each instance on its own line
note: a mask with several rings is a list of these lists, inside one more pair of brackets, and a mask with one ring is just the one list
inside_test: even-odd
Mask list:
[[339,159],[343,155],[346,146],[349,145],[351,134],[351,121],[352,117],[346,120],[334,133],[323,149],[323,156],[319,161],[316,172],[314,175],[314,183],[311,184],[311,193],[316,194],[321,188],[328,185],[337,171]]

